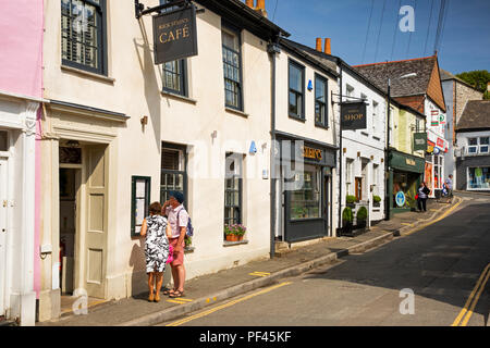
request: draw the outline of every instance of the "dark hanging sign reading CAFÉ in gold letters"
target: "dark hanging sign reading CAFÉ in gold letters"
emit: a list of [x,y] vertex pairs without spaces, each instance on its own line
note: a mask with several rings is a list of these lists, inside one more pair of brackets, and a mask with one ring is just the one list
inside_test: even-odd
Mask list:
[[155,64],[197,55],[196,8],[154,16]]

